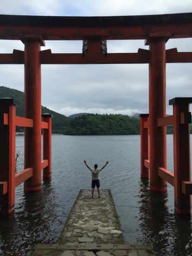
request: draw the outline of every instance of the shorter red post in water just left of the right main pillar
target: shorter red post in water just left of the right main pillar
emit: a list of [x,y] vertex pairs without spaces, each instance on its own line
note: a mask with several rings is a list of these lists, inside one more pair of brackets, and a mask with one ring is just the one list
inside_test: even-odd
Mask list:
[[149,159],[149,150],[148,150],[148,129],[144,128],[144,123],[148,121],[148,117],[140,118],[140,130],[141,130],[141,178],[149,177],[148,167],[144,165],[144,160]]

